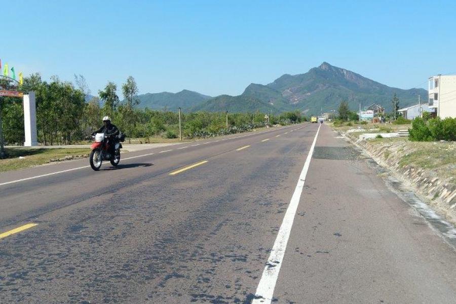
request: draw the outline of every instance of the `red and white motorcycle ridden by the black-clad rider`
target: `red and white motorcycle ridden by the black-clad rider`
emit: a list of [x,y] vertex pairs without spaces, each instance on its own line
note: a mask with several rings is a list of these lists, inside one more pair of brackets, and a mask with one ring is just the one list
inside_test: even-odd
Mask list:
[[122,148],[122,144],[117,142],[112,154],[107,135],[104,133],[96,133],[95,135],[92,135],[92,138],[95,141],[91,146],[92,151],[89,157],[90,167],[92,167],[93,170],[98,171],[101,168],[101,163],[108,160],[112,166],[117,167],[120,162],[120,149]]

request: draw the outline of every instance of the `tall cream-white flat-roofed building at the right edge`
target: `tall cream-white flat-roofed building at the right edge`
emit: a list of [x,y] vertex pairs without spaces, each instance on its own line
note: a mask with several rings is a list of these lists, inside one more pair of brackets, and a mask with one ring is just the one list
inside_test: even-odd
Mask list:
[[429,78],[429,107],[435,108],[441,119],[456,118],[456,75]]

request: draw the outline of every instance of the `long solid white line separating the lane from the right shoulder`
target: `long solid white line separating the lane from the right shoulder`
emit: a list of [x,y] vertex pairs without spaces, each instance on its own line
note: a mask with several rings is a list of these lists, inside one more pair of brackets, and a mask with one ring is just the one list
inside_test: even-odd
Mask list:
[[317,134],[315,134],[314,141],[312,142],[309,154],[307,155],[306,163],[304,163],[304,167],[302,167],[301,174],[299,175],[296,188],[294,189],[287,212],[283,218],[276,241],[274,242],[268,262],[266,263],[266,267],[264,267],[260,282],[256,288],[255,296],[257,298],[252,301],[252,304],[270,304],[272,301],[277,277],[279,276],[283,256],[287,248],[288,238],[290,237],[291,227],[293,226],[293,220],[299,205],[304,182],[306,181],[307,171],[309,170],[310,162],[312,160],[312,154],[314,153],[320,126],[318,126]]

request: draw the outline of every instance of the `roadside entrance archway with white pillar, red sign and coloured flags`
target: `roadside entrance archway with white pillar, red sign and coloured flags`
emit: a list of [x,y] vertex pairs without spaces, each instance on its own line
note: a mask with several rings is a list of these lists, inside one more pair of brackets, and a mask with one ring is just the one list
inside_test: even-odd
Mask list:
[[[23,98],[25,129],[24,146],[38,145],[36,136],[35,92],[24,94],[20,90],[20,84],[17,80],[5,75],[0,75],[0,96]],[[0,117],[0,157],[3,156],[3,144],[2,118]]]

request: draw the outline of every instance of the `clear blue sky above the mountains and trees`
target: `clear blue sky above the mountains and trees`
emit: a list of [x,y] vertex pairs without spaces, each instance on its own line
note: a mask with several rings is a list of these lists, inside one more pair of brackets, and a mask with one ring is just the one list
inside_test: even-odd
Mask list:
[[454,1],[8,1],[2,64],[92,94],[132,75],[140,93],[241,94],[327,61],[389,86],[456,73]]

